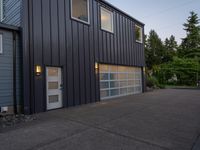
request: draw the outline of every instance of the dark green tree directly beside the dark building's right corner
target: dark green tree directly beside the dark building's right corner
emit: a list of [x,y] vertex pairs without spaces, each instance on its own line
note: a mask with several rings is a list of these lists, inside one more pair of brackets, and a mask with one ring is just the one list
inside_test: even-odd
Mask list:
[[163,51],[162,40],[154,30],[151,30],[145,44],[146,64],[149,69],[163,62]]

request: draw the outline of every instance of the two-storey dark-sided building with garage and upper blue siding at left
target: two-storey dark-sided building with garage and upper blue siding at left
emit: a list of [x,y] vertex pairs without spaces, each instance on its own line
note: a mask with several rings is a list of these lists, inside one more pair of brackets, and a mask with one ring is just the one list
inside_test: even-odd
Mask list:
[[[12,7],[6,8],[6,2]],[[3,4],[2,21],[22,33],[26,114],[144,91],[140,21],[103,0]]]

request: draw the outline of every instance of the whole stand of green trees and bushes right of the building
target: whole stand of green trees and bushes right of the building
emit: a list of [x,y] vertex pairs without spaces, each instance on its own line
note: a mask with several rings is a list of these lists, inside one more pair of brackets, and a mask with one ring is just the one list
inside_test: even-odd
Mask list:
[[180,46],[173,35],[166,38],[163,44],[158,34],[154,30],[150,31],[145,40],[150,81],[155,82],[157,79],[161,84],[196,85],[200,80],[199,22],[197,14],[190,12],[187,23],[184,24],[187,35]]

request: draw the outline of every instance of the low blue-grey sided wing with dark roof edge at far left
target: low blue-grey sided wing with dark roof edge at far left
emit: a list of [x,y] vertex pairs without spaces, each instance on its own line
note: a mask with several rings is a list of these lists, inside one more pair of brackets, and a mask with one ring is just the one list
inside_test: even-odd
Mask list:
[[22,104],[21,61],[19,29],[0,23],[0,112]]

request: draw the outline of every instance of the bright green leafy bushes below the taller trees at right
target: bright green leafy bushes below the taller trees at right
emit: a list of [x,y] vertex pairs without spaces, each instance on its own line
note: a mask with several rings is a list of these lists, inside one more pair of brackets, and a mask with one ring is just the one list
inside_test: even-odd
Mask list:
[[199,62],[191,58],[174,57],[172,62],[154,66],[153,75],[162,84],[196,85],[200,74]]

